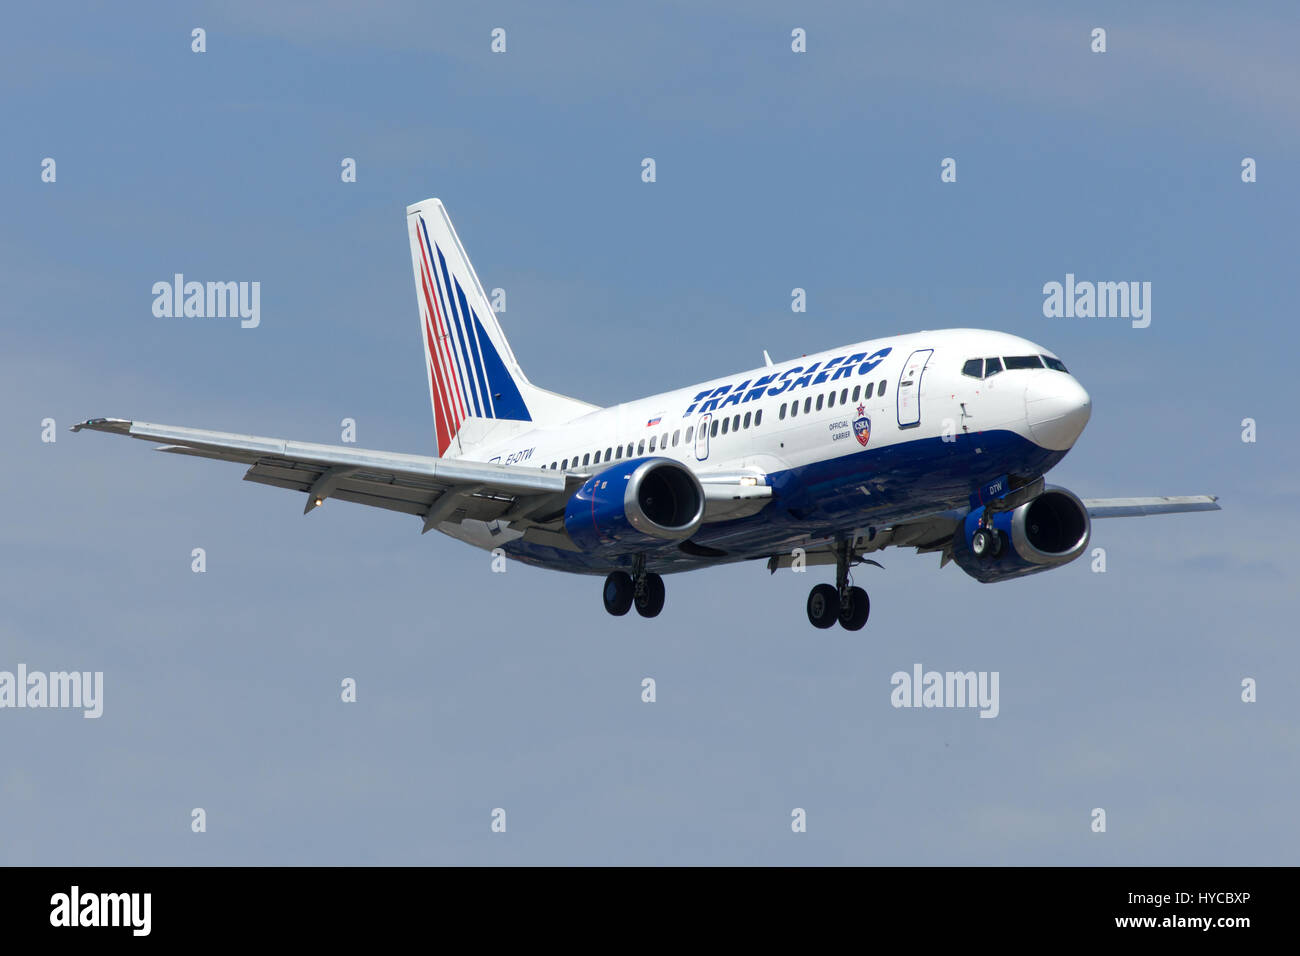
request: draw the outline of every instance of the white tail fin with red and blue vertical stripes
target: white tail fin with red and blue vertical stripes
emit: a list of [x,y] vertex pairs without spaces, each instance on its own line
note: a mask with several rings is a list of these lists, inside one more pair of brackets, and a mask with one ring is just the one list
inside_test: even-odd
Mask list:
[[484,419],[559,424],[594,408],[528,381],[441,200],[408,206],[407,232],[439,455],[490,434]]

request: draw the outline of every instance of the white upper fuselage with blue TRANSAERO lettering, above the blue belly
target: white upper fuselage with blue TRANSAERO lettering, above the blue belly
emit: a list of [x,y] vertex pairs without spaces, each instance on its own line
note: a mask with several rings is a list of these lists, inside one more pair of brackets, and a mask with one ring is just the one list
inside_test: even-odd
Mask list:
[[[918,350],[933,351],[923,368],[906,368]],[[883,351],[879,360],[867,360]],[[858,355],[863,358],[846,360]],[[465,457],[590,475],[624,458],[660,455],[701,475],[767,475],[945,433],[1005,429],[1041,447],[1069,449],[1091,410],[1072,376],[1046,367],[1006,369],[987,378],[962,373],[970,359],[1031,355],[1057,358],[1001,332],[892,336],[601,408],[559,427],[477,446]],[[801,376],[809,369],[812,375],[805,382]],[[910,385],[909,371],[915,380]],[[764,378],[768,384],[755,388]],[[727,401],[737,393],[740,401]],[[798,414],[792,414],[796,401]],[[870,420],[866,442],[853,428],[863,416]]]

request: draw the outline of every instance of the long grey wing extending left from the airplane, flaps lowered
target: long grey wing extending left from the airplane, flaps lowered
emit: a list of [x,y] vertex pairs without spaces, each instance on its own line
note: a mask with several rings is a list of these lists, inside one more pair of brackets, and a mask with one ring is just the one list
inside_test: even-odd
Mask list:
[[402,511],[424,519],[424,531],[467,518],[528,524],[529,516],[563,510],[582,484],[543,468],[312,445],[231,432],[90,419],[73,425],[162,442],[159,451],[247,464],[244,481],[307,493],[307,514],[326,498]]

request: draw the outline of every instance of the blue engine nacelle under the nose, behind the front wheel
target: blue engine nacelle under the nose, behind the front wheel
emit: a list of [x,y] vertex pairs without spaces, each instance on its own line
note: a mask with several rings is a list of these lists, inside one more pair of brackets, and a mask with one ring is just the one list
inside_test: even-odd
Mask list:
[[1063,488],[1046,488],[1017,509],[996,512],[993,528],[1001,550],[976,557],[971,538],[983,514],[983,506],[975,509],[953,533],[953,561],[985,584],[1067,564],[1084,553],[1092,535],[1083,502]]

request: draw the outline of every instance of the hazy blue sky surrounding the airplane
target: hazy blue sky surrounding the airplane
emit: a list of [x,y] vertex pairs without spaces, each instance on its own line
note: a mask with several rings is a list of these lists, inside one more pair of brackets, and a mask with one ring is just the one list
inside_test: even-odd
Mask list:
[[[441,7],[6,13],[0,669],[101,670],[105,701],[0,711],[0,862],[1294,864],[1294,9]],[[857,635],[757,566],[615,620],[594,579],[65,431],[354,418],[426,453],[403,211],[432,195],[540,385],[1002,329],[1092,394],[1053,481],[1223,511],[1098,523],[1101,575],[888,551]],[[153,317],[176,272],[260,281],[261,325]],[[1045,319],[1067,272],[1150,281],[1150,328]],[[1000,671],[1001,714],[890,708],[915,662]]]

